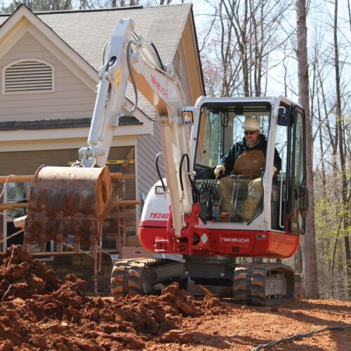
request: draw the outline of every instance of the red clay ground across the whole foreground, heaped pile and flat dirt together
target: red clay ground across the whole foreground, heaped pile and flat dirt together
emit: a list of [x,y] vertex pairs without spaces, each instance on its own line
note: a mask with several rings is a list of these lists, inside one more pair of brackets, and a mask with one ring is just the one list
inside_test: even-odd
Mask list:
[[[89,297],[72,274],[61,282],[18,246],[0,254],[1,350],[252,350],[325,326],[351,325],[351,303],[303,300],[279,307],[161,296]],[[350,350],[351,330],[325,331],[272,350]]]

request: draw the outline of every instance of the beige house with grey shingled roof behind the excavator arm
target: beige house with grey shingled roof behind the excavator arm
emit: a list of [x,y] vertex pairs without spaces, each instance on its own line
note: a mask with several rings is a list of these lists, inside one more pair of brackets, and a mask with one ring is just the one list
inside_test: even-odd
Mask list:
[[[164,63],[173,63],[189,105],[204,95],[190,4],[41,13],[22,5],[0,14],[0,176],[34,174],[41,164],[67,166],[77,159],[86,146],[102,51],[119,18],[133,18],[135,31],[154,43]],[[130,92],[126,110],[132,106]],[[153,120],[154,110],[140,98],[133,117],[121,119],[115,130],[110,168],[135,173],[126,180],[126,199],[142,200],[158,179]],[[27,183],[11,183],[5,200],[22,201],[27,190]],[[140,208],[131,213],[128,232],[135,235]],[[12,223],[0,225],[5,249],[13,242],[6,240]]]

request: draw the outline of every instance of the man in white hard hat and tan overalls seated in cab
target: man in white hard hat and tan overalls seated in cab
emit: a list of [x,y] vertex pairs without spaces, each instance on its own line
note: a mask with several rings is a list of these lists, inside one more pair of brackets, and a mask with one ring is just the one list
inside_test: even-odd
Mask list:
[[[244,138],[234,145],[220,160],[214,171],[216,178],[234,174],[244,179],[252,179],[249,183],[247,199],[240,216],[250,220],[262,197],[261,176],[265,168],[267,140],[260,134],[260,124],[256,118],[244,121]],[[282,168],[282,159],[277,149],[274,150],[273,174]]]

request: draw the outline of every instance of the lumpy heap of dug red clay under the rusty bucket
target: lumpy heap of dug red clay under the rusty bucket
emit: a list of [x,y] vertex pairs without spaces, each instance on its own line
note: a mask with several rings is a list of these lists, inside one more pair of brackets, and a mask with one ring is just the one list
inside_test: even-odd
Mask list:
[[88,297],[85,282],[61,282],[44,263],[13,246],[1,254],[0,350],[142,349],[146,343],[191,343],[183,319],[225,314],[218,298],[187,296],[178,284],[161,296]]

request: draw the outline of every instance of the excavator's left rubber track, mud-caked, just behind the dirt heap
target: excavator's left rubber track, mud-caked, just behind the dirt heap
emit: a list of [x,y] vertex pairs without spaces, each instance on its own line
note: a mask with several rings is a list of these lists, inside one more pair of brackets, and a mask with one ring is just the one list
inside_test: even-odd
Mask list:
[[154,258],[118,260],[114,264],[111,274],[112,296],[126,296],[127,293],[131,295],[145,295],[143,274],[147,267],[160,261]]

